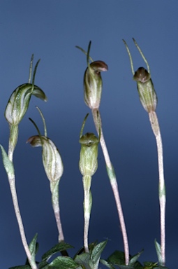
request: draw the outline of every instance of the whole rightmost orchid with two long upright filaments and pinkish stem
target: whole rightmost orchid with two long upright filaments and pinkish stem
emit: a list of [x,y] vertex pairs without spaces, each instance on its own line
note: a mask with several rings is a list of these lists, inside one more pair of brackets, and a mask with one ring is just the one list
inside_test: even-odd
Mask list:
[[140,96],[140,102],[142,103],[142,106],[147,111],[149,115],[149,121],[151,123],[151,128],[154,132],[154,135],[156,137],[156,145],[157,145],[157,151],[158,151],[158,172],[159,172],[159,204],[160,204],[160,213],[161,213],[161,253],[158,253],[158,248],[156,248],[156,251],[158,253],[159,262],[161,265],[165,265],[165,180],[164,180],[164,170],[163,170],[163,145],[162,145],[162,139],[161,139],[161,132],[158,124],[158,118],[156,116],[156,104],[157,104],[157,96],[156,92],[154,90],[154,84],[151,81],[151,74],[149,69],[149,64],[144,57],[142,50],[138,46],[138,43],[136,43],[135,39],[133,39],[135,46],[138,48],[140,55],[142,56],[144,62],[147,64],[147,69],[144,69],[144,67],[140,67],[137,71],[134,72],[133,69],[133,60],[131,57],[130,50],[128,49],[128,46],[126,44],[126,41],[124,41],[124,44],[126,46],[126,50],[128,52],[128,56],[131,61],[131,70],[133,73],[133,79],[137,81],[138,86],[138,93]]

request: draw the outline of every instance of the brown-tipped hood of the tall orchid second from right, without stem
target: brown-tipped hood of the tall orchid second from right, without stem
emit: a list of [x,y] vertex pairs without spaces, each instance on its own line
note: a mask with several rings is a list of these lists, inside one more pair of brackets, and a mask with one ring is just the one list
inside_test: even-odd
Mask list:
[[101,102],[101,71],[107,71],[103,61],[91,62],[84,73],[84,102],[90,109],[98,109]]

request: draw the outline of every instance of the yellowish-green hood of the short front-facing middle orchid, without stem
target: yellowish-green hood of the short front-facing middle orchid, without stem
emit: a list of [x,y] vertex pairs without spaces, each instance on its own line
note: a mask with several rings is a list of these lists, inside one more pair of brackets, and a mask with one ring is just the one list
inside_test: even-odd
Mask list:
[[98,167],[99,139],[94,134],[87,132],[79,140],[81,144],[79,168],[83,176],[93,176]]

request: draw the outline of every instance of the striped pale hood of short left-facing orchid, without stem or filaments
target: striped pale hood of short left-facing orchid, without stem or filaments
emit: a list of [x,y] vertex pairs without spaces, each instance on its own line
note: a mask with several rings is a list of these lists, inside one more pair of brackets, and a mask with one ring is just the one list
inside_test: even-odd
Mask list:
[[63,174],[64,167],[59,151],[52,140],[45,136],[40,137],[39,135],[36,135],[30,137],[27,142],[34,147],[42,146],[43,166],[45,168],[47,178],[52,182],[58,181]]

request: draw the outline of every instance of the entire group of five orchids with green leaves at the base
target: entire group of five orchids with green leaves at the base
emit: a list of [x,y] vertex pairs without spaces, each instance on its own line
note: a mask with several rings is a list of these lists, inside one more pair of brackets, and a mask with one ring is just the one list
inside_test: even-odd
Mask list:
[[[103,61],[93,61],[89,55],[91,42],[89,42],[87,52],[80,47],[85,55],[87,55],[87,69],[84,73],[84,102],[91,109],[92,116],[94,118],[94,124],[96,126],[96,131],[98,133],[98,137],[93,133],[87,132],[87,134],[83,135],[84,125],[87,120],[87,116],[84,118],[84,122],[82,124],[82,129],[80,131],[80,161],[79,168],[82,174],[83,188],[84,188],[84,247],[82,251],[78,252],[75,257],[72,259],[68,256],[68,252],[66,249],[71,247],[70,245],[65,243],[64,233],[62,230],[61,219],[60,219],[60,207],[59,207],[59,181],[63,174],[63,163],[61,160],[61,156],[55,144],[51,139],[47,137],[47,128],[45,125],[45,118],[43,117],[42,111],[37,107],[40,116],[43,120],[44,125],[44,135],[41,135],[40,130],[38,129],[34,120],[31,120],[36,127],[38,135],[32,136],[28,139],[27,142],[31,144],[31,146],[41,146],[42,147],[42,159],[43,166],[45,169],[45,173],[47,178],[50,181],[50,191],[52,193],[52,207],[54,210],[54,216],[57,222],[57,228],[59,231],[59,243],[47,251],[42,257],[42,261],[40,263],[36,262],[36,240],[37,235],[34,236],[33,240],[30,244],[27,244],[26,236],[24,233],[24,226],[22,223],[22,217],[20,215],[20,209],[17,201],[17,193],[15,190],[15,170],[13,165],[13,153],[15,150],[15,146],[17,144],[18,138],[18,125],[20,121],[24,117],[24,114],[27,112],[29,102],[31,99],[31,95],[35,95],[44,101],[47,101],[47,97],[43,90],[41,90],[38,86],[34,84],[36,69],[38,67],[38,63],[34,68],[34,75],[31,82],[31,74],[32,74],[32,65],[34,56],[31,57],[30,71],[29,71],[29,83],[20,85],[13,94],[10,96],[8,100],[8,104],[6,106],[5,117],[10,125],[10,138],[9,138],[9,146],[8,146],[8,154],[1,146],[1,152],[3,157],[3,165],[8,175],[8,181],[10,184],[10,191],[12,193],[13,205],[15,208],[15,214],[17,217],[17,222],[20,228],[20,235],[22,238],[22,244],[24,246],[24,250],[27,254],[27,263],[24,265],[25,267],[15,267],[15,268],[32,268],[32,269],[47,269],[47,268],[89,268],[89,269],[97,269],[99,263],[103,263],[107,268],[115,268],[114,265],[119,266],[119,268],[165,268],[165,183],[164,183],[164,175],[163,175],[163,149],[161,142],[161,133],[159,130],[158,119],[156,116],[156,104],[157,97],[156,92],[154,90],[154,85],[151,81],[151,75],[149,70],[149,64],[145,59],[140,47],[133,39],[135,46],[138,48],[144,62],[147,64],[147,70],[144,67],[140,67],[136,72],[133,69],[133,62],[130,50],[124,41],[126,46],[126,50],[128,51],[128,55],[131,60],[131,70],[133,73],[133,79],[137,82],[138,93],[140,97],[140,102],[144,109],[149,114],[149,120],[151,123],[152,130],[156,137],[156,144],[158,149],[158,171],[159,171],[159,202],[160,202],[160,212],[161,212],[161,244],[155,242],[156,252],[158,255],[158,263],[144,263],[144,267],[137,261],[141,252],[136,254],[135,256],[129,255],[128,249],[128,237],[126,233],[126,225],[124,222],[124,214],[121,208],[121,200],[119,198],[119,190],[117,186],[117,178],[114,173],[114,167],[110,161],[110,156],[107,151],[107,146],[105,144],[105,139],[103,136],[103,128],[101,122],[101,114],[99,111],[99,106],[101,102],[101,93],[102,93],[102,78],[101,71],[107,71],[107,64]],[[90,63],[91,62],[91,63]],[[101,252],[103,251],[105,244],[107,241],[101,242],[97,244],[96,242],[93,244],[89,244],[88,242],[88,232],[89,232],[89,219],[91,214],[91,206],[92,206],[92,196],[91,196],[91,178],[97,170],[98,167],[98,144],[101,144],[101,148],[103,150],[103,155],[105,158],[106,170],[108,177],[110,179],[110,184],[112,187],[112,191],[114,194],[114,199],[117,205],[117,212],[119,216],[121,233],[124,241],[124,256],[122,255],[122,261],[119,255],[123,254],[121,252],[117,252],[107,258],[107,260],[101,259]],[[54,258],[54,260],[49,263],[49,259],[57,251],[61,251],[62,256],[58,256]],[[119,261],[117,258],[119,257]],[[123,259],[124,257],[124,259]],[[140,267],[139,267],[140,266]]]

